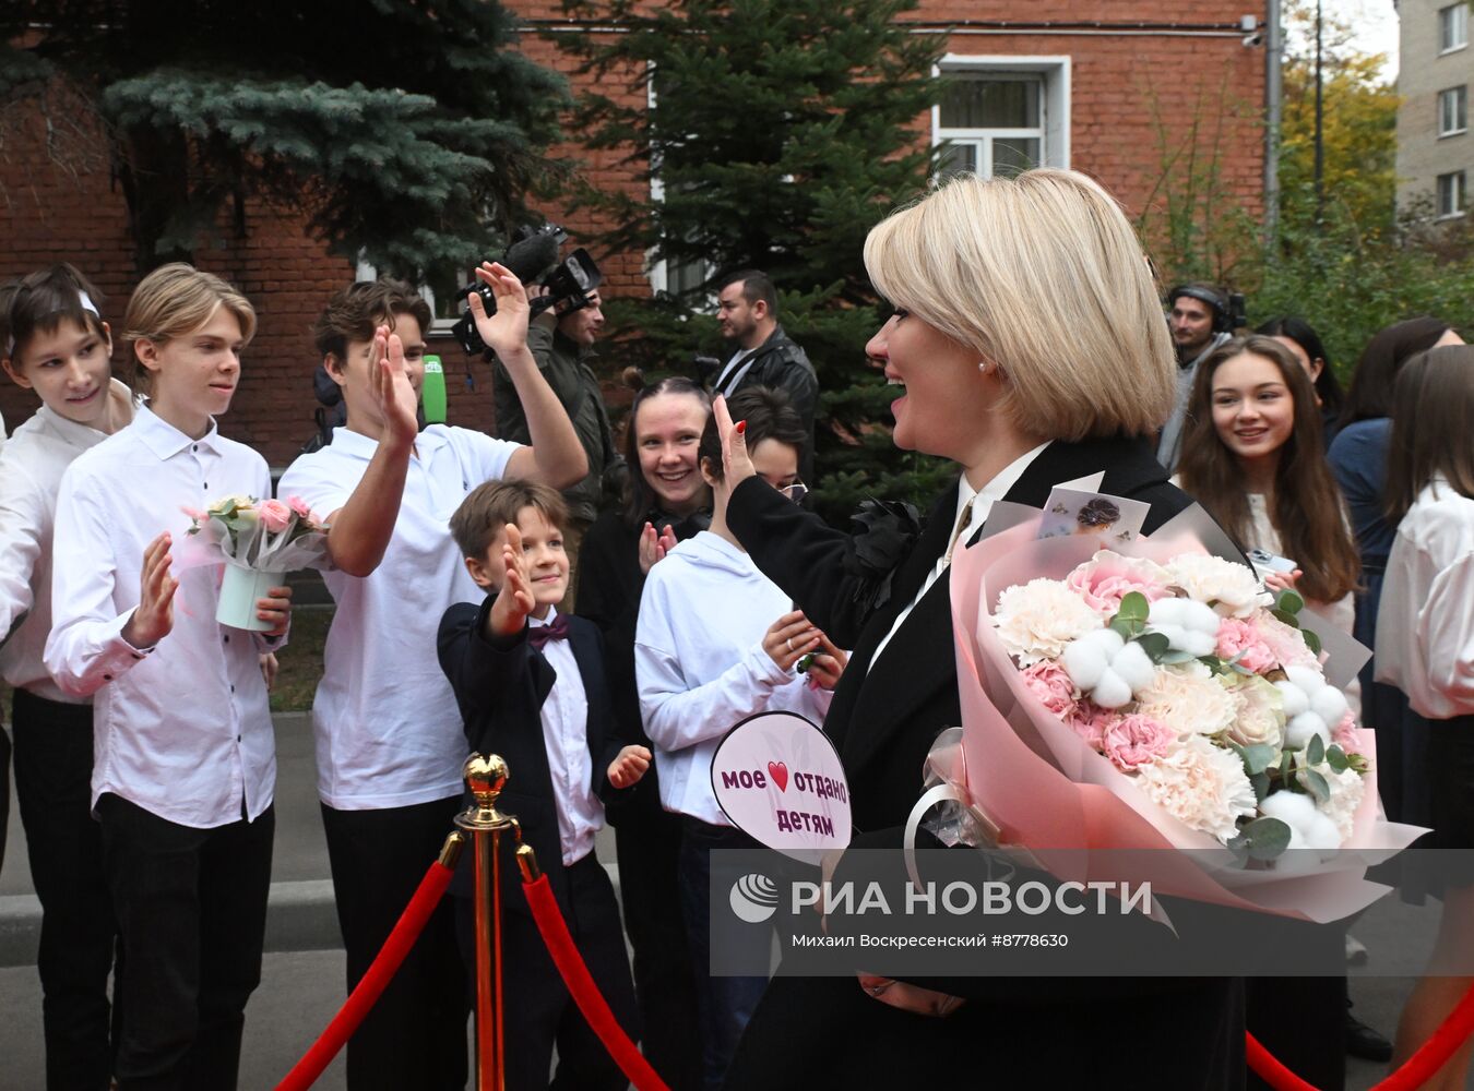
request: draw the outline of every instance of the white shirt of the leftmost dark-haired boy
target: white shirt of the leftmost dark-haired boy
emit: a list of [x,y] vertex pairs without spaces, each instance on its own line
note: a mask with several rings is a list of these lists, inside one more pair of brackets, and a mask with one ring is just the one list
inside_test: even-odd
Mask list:
[[[133,418],[133,392],[116,378],[116,420]],[[52,632],[52,530],[62,474],[108,434],[44,405],[0,451],[0,677],[49,701],[90,704],[52,682],[43,655]],[[9,638],[6,638],[9,633]]]

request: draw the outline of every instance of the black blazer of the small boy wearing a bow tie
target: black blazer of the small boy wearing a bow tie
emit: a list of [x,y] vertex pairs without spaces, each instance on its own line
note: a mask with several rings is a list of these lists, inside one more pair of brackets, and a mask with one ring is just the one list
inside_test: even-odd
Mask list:
[[[548,876],[548,885],[565,914],[569,911],[567,880],[563,873],[563,850],[557,832],[557,802],[553,795],[553,774],[548,770],[547,744],[542,738],[542,702],[557,680],[557,671],[541,652],[528,643],[528,627],[503,642],[486,638],[486,617],[492,599],[479,607],[458,602],[441,618],[441,668],[455,691],[466,742],[479,754],[500,754],[507,761],[507,788],[498,808],[517,817],[522,839],[538,854],[538,866]],[[618,795],[609,783],[609,764],[619,755],[622,742],[613,727],[609,686],[604,682],[603,638],[585,618],[567,615],[569,646],[578,663],[588,696],[588,754],[593,760],[593,783],[600,799]],[[467,802],[470,794],[466,795]],[[528,913],[526,900],[517,889],[517,873],[510,836],[501,841],[503,907]],[[461,854],[460,867],[451,882],[451,892],[470,897],[472,852]]]

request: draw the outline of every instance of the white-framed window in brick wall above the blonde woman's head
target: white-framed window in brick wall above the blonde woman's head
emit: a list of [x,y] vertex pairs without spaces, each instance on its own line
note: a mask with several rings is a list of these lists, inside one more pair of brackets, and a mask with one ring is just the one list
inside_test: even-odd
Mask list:
[[1070,59],[948,54],[932,107],[939,174],[1070,165]]

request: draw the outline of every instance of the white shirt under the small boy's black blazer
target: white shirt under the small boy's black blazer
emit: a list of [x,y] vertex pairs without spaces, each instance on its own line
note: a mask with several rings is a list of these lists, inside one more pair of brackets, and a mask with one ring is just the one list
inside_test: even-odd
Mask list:
[[[551,624],[557,608],[548,610],[547,620],[528,618],[538,629]],[[547,701],[542,702],[542,741],[553,776],[553,799],[557,804],[557,839],[563,850],[563,866],[572,867],[594,848],[594,835],[604,827],[604,804],[594,795],[594,758],[588,751],[588,693],[578,660],[567,640],[548,640],[542,658],[557,673]]]

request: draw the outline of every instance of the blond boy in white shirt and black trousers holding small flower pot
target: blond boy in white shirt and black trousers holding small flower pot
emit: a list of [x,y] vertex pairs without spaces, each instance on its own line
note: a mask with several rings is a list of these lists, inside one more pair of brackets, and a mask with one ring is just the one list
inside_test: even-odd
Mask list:
[[175,576],[170,546],[181,509],[270,495],[265,461],[214,420],[255,312],[175,264],[144,277],[124,324],[150,399],[62,479],[46,665],[68,693],[96,695],[91,804],[125,966],[118,1085],[233,1087],[271,882],[276,739],[258,658],[286,632],[290,592],[259,599],[267,635],[227,629],[218,567]]

